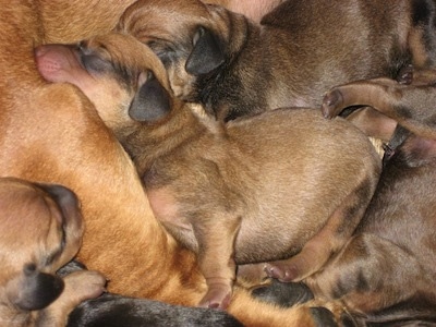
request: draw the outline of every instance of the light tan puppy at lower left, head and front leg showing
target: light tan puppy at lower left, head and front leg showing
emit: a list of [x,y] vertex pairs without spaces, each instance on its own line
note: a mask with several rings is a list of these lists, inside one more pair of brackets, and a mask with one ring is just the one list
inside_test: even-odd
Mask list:
[[96,271],[55,275],[82,244],[76,196],[60,185],[2,178],[0,207],[0,325],[65,326],[68,314],[106,283]]

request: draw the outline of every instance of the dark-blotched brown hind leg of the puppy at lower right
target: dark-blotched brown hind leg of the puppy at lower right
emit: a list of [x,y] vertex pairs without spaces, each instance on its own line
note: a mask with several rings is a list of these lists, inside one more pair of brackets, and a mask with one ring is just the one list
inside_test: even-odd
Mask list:
[[340,299],[352,312],[367,314],[410,299],[422,283],[432,284],[424,276],[413,254],[362,233],[305,282],[315,296]]

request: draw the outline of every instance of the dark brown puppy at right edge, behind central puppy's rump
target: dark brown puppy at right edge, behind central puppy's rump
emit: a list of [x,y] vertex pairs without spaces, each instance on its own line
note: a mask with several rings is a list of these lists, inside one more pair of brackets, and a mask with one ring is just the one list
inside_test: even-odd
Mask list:
[[399,124],[356,234],[307,279],[315,295],[340,299],[367,323],[436,323],[436,71],[414,74],[411,85],[379,78],[335,87],[323,104],[329,118],[364,105]]

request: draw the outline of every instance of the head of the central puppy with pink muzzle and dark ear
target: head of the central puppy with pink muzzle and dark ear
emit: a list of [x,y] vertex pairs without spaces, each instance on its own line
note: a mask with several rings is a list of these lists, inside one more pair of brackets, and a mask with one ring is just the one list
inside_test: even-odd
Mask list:
[[129,35],[113,33],[80,46],[43,46],[36,50],[36,62],[47,81],[81,88],[116,134],[143,123],[155,124],[171,112],[162,63]]

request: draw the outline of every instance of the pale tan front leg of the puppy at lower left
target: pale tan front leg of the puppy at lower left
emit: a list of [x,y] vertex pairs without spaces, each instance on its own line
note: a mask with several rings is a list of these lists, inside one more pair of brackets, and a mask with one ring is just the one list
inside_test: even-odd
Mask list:
[[90,270],[74,271],[63,278],[62,294],[47,308],[38,313],[36,326],[62,327],[66,325],[69,314],[81,302],[99,296],[106,284],[106,278]]

